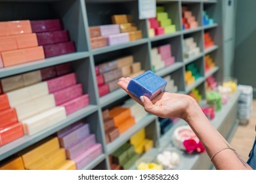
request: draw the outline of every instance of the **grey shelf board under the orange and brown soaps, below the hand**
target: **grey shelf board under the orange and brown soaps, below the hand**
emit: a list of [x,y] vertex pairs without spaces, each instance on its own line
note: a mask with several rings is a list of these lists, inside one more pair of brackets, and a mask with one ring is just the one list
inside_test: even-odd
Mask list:
[[142,127],[146,127],[146,125],[150,124],[153,120],[156,120],[156,116],[152,114],[148,114],[145,116],[142,120],[137,122],[135,125],[127,129],[124,133],[122,133],[115,141],[110,142],[110,144],[107,144],[107,154],[112,154],[121,144],[129,141],[131,136],[133,136],[137,131],[142,129]]

